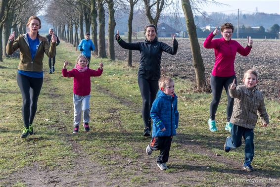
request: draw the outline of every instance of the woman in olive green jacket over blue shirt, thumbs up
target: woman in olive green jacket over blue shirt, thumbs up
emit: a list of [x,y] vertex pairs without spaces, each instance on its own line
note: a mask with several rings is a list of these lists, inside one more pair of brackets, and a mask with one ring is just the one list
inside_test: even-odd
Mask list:
[[17,84],[22,94],[22,116],[24,122],[21,138],[33,135],[33,119],[37,110],[37,101],[43,84],[44,53],[52,57],[56,50],[56,36],[52,35],[50,46],[47,38],[40,36],[41,20],[31,16],[26,24],[29,31],[15,39],[14,32],[9,36],[7,54],[19,48],[20,62],[17,71]]

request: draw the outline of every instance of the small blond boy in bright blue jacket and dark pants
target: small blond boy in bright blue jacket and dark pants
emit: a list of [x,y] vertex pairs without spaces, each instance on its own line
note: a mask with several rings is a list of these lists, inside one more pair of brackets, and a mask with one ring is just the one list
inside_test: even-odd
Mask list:
[[152,140],[146,148],[147,155],[160,150],[157,166],[166,170],[172,137],[176,135],[179,112],[177,95],[174,93],[174,81],[170,77],[162,77],[158,81],[160,90],[154,100],[150,112],[153,120]]

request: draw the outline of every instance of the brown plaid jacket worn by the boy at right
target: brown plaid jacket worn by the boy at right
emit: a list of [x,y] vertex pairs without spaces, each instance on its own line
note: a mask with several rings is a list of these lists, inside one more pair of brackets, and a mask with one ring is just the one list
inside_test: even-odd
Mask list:
[[231,90],[230,96],[234,98],[233,114],[231,123],[237,126],[254,129],[258,120],[257,111],[263,123],[269,124],[269,117],[266,112],[264,97],[255,88],[248,89],[245,85],[237,86]]

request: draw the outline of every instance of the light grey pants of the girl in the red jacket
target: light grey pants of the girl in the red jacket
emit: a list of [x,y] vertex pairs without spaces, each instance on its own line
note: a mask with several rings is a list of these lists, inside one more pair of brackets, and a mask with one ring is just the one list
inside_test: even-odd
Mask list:
[[73,94],[74,103],[74,127],[79,126],[82,118],[83,110],[83,122],[89,123],[90,121],[90,98],[91,95],[80,96]]

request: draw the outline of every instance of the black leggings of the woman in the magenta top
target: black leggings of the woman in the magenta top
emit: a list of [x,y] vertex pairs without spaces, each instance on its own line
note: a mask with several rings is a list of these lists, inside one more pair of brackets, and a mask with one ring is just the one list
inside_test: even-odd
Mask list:
[[234,99],[230,96],[230,93],[228,92],[229,85],[233,83],[233,79],[235,79],[236,84],[236,76],[233,75],[231,77],[216,77],[211,75],[210,78],[210,85],[212,89],[212,102],[210,103],[210,118],[211,120],[215,120],[216,111],[221,99],[221,95],[223,92],[223,88],[225,88],[226,93],[228,95],[228,106],[227,106],[227,121],[229,122],[231,120],[231,116],[233,113],[233,102]]

